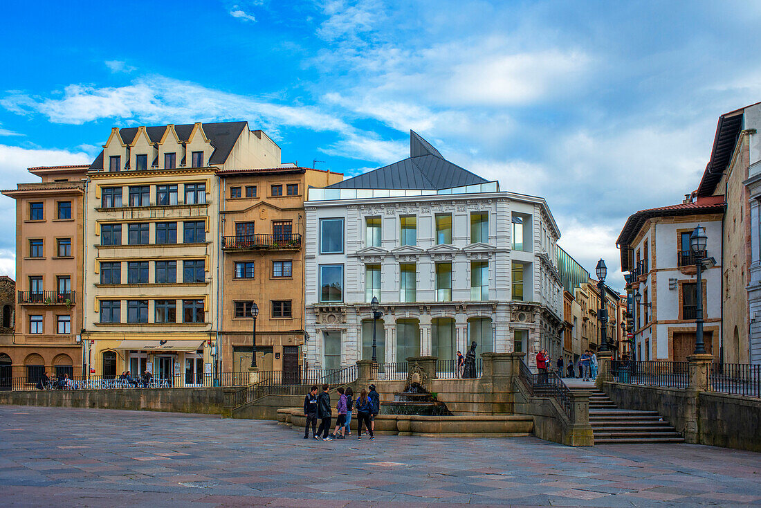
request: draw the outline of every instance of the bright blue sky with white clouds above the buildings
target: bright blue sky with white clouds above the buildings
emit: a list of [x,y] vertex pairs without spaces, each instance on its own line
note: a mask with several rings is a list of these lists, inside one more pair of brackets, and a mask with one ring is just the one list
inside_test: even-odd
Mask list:
[[[622,286],[638,209],[697,187],[718,116],[761,101],[757,2],[4,2],[2,188],[89,162],[112,126],[248,120],[358,174],[409,129],[544,196],[562,246]],[[0,273],[14,275],[0,196]]]

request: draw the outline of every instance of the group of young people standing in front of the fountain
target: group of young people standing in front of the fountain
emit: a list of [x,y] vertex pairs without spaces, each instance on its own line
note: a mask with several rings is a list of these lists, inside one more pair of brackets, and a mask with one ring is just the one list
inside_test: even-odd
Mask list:
[[[380,397],[375,391],[375,385],[369,385],[355,398],[352,388],[336,388],[339,398],[336,403],[336,428],[330,433],[330,423],[333,420],[333,408],[330,404],[330,385],[323,385],[323,391],[317,395],[317,386],[312,386],[304,397],[304,415],[307,423],[304,425],[304,439],[309,439],[309,426],[312,426],[312,438],[323,441],[346,439],[351,436],[352,414],[357,415],[357,438],[362,439],[362,427],[367,429],[371,441],[375,439],[375,417],[380,412]],[[320,420],[320,427],[317,427]]]

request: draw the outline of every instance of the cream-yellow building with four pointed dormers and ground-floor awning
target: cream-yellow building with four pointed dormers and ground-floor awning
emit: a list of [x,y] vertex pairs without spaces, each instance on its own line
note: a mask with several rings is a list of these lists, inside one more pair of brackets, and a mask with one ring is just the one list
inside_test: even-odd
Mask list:
[[164,385],[212,380],[215,172],[279,165],[279,146],[247,122],[111,130],[86,190],[82,338],[91,375],[148,370]]

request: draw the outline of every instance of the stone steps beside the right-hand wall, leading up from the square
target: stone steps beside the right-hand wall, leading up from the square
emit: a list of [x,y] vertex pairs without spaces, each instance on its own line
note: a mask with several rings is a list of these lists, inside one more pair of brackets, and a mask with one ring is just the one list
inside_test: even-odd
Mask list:
[[594,444],[618,443],[684,443],[683,437],[657,411],[619,409],[597,388],[571,388],[572,391],[589,390],[589,423],[594,433]]

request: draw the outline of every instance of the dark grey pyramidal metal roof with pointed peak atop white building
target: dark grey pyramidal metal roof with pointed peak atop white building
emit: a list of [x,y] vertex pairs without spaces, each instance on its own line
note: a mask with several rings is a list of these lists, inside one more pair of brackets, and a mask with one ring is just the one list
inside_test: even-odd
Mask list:
[[463,185],[486,184],[487,180],[444,158],[431,143],[409,131],[409,158],[349,178],[329,189],[441,190]]

